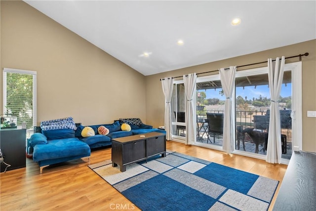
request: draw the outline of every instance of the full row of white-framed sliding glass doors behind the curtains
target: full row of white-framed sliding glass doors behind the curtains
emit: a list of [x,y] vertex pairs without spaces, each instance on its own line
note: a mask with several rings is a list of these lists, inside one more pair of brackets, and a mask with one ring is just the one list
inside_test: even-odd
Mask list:
[[[219,74],[198,77],[196,87],[198,146],[223,150],[223,115],[225,96]],[[270,120],[268,68],[237,71],[233,95],[236,140],[233,153],[265,159]],[[279,97],[282,159],[291,157],[292,149],[302,149],[302,63],[285,64]],[[185,89],[183,80],[175,81],[171,102],[173,139],[185,142]]]

